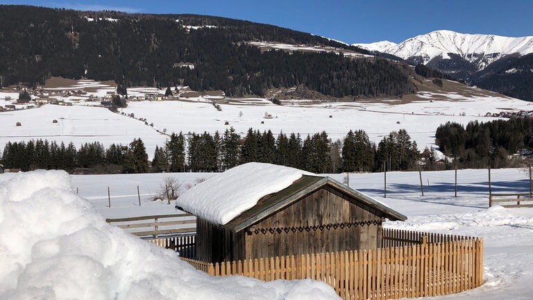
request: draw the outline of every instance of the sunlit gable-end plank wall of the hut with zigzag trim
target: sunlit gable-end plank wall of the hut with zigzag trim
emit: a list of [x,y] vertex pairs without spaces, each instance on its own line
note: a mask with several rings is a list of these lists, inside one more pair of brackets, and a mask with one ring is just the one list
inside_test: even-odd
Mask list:
[[376,249],[381,247],[382,217],[325,186],[250,231],[245,240],[246,259]]

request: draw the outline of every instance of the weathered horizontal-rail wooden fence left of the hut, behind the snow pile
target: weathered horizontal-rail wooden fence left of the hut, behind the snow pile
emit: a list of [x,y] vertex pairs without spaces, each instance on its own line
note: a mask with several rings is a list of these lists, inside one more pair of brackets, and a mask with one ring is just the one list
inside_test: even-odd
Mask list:
[[[170,220],[161,222],[161,219]],[[146,220],[149,222],[141,223]],[[133,235],[155,239],[158,239],[160,235],[190,234],[196,231],[196,218],[188,213],[105,219],[105,221],[119,228],[124,228]]]

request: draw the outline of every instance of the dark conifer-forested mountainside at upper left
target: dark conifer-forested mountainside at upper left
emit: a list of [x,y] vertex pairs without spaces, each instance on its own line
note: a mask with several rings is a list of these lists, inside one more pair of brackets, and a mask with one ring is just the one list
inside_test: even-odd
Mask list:
[[132,85],[189,85],[226,95],[262,96],[303,85],[332,97],[398,96],[414,91],[409,67],[337,53],[261,51],[251,41],[365,50],[286,28],[200,15],[81,12],[0,6],[3,85],[51,76]]

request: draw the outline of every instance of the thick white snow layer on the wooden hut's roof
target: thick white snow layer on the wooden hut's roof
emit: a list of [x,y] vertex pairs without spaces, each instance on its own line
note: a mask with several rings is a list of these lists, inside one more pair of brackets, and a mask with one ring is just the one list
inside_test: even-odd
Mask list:
[[267,163],[246,163],[196,185],[181,195],[176,205],[214,224],[226,224],[302,175],[315,174]]

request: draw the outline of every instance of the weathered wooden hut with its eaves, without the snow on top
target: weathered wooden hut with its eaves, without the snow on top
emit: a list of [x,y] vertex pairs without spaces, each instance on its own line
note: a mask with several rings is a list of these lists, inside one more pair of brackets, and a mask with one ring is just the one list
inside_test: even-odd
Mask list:
[[407,217],[329,177],[303,175],[226,224],[196,221],[196,258],[217,263],[381,247],[382,222]]

